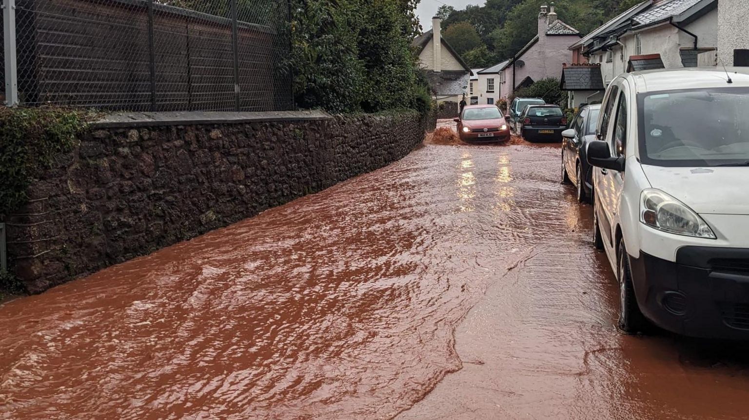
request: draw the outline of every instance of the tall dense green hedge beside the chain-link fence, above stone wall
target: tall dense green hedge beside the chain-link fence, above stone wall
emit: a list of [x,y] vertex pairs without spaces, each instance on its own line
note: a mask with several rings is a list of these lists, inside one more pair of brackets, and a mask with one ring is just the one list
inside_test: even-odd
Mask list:
[[301,108],[427,112],[410,40],[416,0],[291,0],[294,96]]

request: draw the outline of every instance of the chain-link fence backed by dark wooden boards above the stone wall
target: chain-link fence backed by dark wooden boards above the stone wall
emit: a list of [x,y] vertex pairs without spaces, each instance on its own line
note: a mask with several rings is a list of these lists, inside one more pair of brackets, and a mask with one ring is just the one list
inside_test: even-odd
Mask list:
[[[9,5],[4,15],[16,6],[21,105],[128,111],[294,106],[283,66],[290,48],[288,1],[2,1]],[[12,34],[3,25],[0,42]]]

